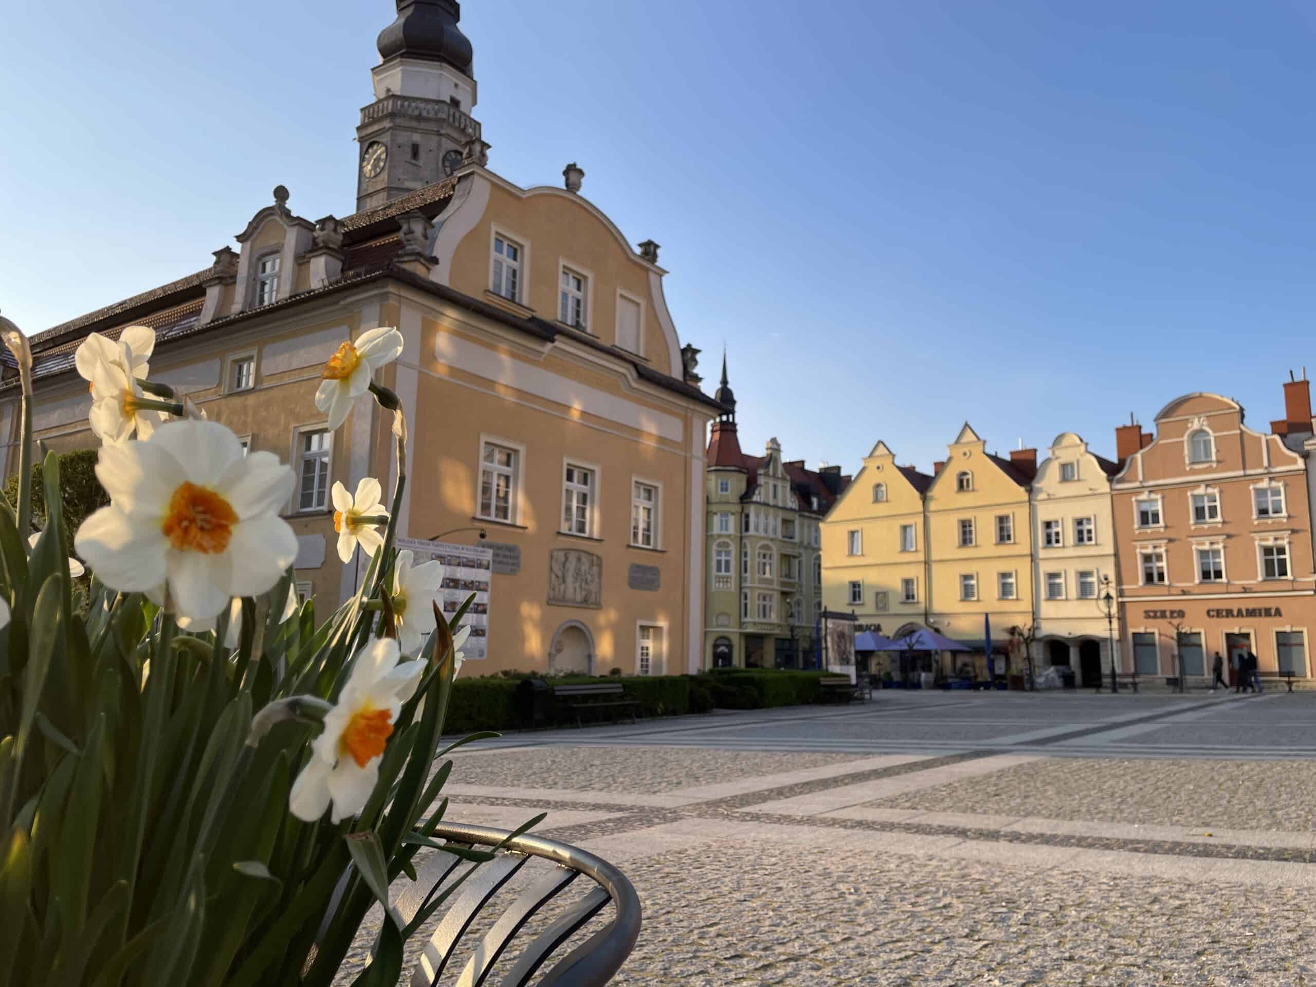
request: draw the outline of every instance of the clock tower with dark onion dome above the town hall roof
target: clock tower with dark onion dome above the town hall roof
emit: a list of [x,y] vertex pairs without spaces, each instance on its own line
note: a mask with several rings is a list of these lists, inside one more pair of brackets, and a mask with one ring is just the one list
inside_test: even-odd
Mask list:
[[397,20],[379,36],[375,101],[357,128],[357,209],[370,209],[441,182],[479,139],[474,55],[457,21],[457,0],[397,0]]

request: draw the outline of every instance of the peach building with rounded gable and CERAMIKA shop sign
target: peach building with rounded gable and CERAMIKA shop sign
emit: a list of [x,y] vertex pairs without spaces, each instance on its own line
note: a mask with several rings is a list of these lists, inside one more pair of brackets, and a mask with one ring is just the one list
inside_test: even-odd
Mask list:
[[1286,386],[1286,421],[1244,424],[1229,397],[1190,393],[1154,434],[1116,429],[1112,480],[1124,671],[1194,679],[1252,650],[1262,671],[1311,675],[1316,572],[1307,471],[1307,382]]

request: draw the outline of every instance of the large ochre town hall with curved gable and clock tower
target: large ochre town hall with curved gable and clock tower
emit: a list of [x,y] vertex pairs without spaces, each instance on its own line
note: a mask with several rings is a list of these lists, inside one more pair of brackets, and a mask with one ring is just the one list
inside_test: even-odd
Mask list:
[[[378,382],[411,426],[399,534],[495,547],[488,658],[471,671],[695,670],[704,437],[722,407],[678,340],[658,245],[632,246],[574,164],[563,187],[533,188],[487,167],[454,30],[393,32],[387,51],[380,36],[358,162],[358,201],[378,204],[309,221],[280,186],[212,265],[34,336],[37,434],[95,446],[72,351],[91,332],[151,326],[151,379],[296,471],[284,517],[322,613],[362,569],[336,554],[329,488],[376,476],[391,501],[396,462],[391,415],[361,399],[330,433],[313,395],[340,343],[395,325],[404,350]],[[436,180],[393,187],[397,155]],[[9,374],[7,472],[17,397]]]

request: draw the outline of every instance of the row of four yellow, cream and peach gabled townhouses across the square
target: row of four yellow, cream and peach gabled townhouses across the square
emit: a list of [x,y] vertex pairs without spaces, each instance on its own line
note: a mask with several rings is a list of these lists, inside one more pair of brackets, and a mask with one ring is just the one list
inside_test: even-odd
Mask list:
[[[821,522],[822,604],[899,636],[926,626],[1087,686],[1116,669],[1209,676],[1253,651],[1311,676],[1316,440],[1305,375],[1269,432],[1190,393],[1154,429],[1116,429],[1116,459],[1065,432],[1037,462],[965,425],[930,472],[884,442]],[[1016,659],[1021,655],[1016,654]],[[999,667],[999,666],[998,666]]]

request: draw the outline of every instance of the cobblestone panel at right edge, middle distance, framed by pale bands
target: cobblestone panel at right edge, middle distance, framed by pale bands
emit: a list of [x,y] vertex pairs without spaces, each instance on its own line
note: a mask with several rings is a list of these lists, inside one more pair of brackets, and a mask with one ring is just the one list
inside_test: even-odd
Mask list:
[[1316,762],[1041,759],[874,804],[1307,832],[1316,816]]

